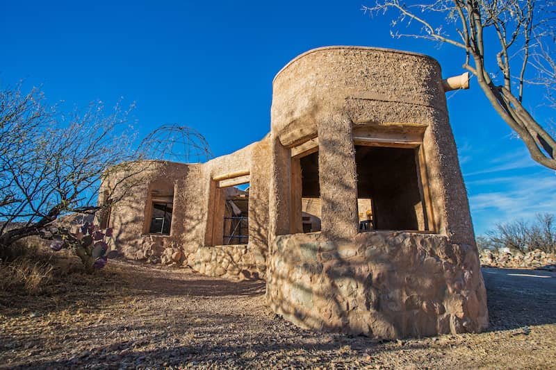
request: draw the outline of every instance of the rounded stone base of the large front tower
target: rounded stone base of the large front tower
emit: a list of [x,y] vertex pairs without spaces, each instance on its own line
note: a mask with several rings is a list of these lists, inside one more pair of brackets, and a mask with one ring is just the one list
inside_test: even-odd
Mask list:
[[278,236],[267,298],[303,328],[380,338],[488,326],[477,251],[441,235],[376,231],[337,242],[318,233]]

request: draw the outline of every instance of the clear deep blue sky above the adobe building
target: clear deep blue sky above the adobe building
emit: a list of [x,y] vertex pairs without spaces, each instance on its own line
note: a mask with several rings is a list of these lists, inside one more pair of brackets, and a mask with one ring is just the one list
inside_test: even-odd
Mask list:
[[[144,137],[162,124],[201,132],[215,155],[270,130],[272,78],[298,54],[327,45],[417,51],[464,72],[459,50],[393,39],[390,17],[364,1],[0,0],[0,85],[24,78],[71,109],[123,97]],[[369,3],[366,3],[369,5]],[[556,175],[529,159],[474,80],[447,94],[477,234],[510,219],[556,212]],[[528,107],[538,108],[541,92]]]

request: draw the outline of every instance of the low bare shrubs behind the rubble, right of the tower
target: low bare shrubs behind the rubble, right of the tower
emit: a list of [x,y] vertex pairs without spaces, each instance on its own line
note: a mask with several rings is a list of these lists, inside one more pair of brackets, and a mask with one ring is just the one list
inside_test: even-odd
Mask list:
[[491,250],[509,248],[521,253],[540,249],[556,253],[556,216],[545,213],[538,214],[529,222],[514,220],[496,224],[486,236],[477,237],[477,247]]

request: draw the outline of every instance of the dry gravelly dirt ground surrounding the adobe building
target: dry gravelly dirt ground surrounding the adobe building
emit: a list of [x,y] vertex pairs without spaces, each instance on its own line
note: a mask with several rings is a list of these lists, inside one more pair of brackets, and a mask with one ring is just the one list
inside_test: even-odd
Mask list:
[[556,369],[556,274],[504,271],[483,271],[486,333],[381,342],[293,326],[261,281],[111,260],[35,296],[0,292],[0,368]]

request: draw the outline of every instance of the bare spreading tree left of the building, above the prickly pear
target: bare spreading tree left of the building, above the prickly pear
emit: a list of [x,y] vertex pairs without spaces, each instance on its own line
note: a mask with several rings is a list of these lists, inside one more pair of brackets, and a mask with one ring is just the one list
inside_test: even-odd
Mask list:
[[114,203],[142,171],[131,162],[141,155],[126,125],[129,110],[118,105],[106,115],[101,102],[70,115],[57,110],[37,88],[0,90],[0,248],[40,235],[62,215],[111,206],[97,204],[103,178],[117,171],[121,179],[108,187]]

